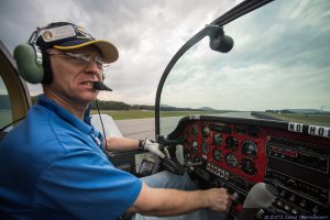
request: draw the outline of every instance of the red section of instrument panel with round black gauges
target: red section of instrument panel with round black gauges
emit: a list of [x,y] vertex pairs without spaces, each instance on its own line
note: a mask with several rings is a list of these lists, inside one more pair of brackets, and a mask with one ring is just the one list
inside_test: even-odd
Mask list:
[[258,183],[265,176],[265,132],[257,127],[211,121],[193,122],[183,135],[187,161],[200,158],[226,170]]

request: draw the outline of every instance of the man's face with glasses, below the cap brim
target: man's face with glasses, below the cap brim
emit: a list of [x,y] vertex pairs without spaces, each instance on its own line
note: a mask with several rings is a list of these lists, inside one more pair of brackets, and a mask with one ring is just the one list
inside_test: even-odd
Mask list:
[[[101,57],[95,46],[70,51],[51,48],[48,54],[53,81],[44,88],[50,98],[65,105],[81,107],[97,98],[98,91],[92,88],[92,82],[101,80],[102,70],[95,62],[95,57]],[[89,55],[92,58],[86,62],[79,59],[79,55]]]

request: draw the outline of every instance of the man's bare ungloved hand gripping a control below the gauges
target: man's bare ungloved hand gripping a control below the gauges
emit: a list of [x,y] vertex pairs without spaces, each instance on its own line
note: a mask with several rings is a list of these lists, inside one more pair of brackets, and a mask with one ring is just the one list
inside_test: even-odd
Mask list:
[[205,191],[208,199],[208,208],[215,211],[229,212],[231,196],[226,188],[211,188]]

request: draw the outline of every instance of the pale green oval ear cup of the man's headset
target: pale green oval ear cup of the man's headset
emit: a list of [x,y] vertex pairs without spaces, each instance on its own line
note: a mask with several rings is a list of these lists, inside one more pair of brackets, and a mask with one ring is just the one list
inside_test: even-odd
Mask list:
[[44,68],[37,63],[36,52],[31,44],[20,44],[14,50],[19,74],[30,84],[40,84],[44,78]]

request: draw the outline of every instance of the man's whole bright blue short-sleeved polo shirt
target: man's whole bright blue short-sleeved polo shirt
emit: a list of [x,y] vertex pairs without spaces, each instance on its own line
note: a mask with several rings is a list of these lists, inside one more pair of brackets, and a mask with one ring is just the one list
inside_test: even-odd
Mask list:
[[0,219],[117,219],[141,187],[88,120],[45,96],[0,145]]

